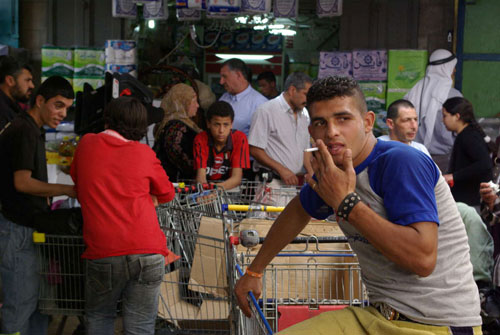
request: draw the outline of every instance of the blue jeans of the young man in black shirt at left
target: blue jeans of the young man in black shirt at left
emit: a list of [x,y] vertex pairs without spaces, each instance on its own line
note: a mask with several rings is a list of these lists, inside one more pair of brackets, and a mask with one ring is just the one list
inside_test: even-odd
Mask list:
[[0,214],[0,275],[4,301],[2,333],[47,334],[49,318],[38,311],[39,264],[33,229]]

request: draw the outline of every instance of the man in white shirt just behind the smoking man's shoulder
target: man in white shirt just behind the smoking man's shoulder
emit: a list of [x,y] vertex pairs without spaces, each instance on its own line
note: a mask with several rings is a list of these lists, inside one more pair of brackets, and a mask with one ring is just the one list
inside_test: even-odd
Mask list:
[[389,135],[382,135],[378,137],[379,140],[399,141],[424,152],[430,157],[427,148],[423,144],[414,141],[418,132],[418,116],[411,102],[399,99],[390,104],[387,109],[385,123],[389,128]]

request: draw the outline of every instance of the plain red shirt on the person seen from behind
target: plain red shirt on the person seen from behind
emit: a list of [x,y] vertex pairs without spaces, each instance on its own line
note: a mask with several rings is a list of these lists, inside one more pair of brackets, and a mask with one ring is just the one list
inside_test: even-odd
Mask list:
[[151,148],[114,131],[87,134],[76,148],[71,177],[82,206],[83,258],[167,256],[150,194],[164,203],[175,192]]

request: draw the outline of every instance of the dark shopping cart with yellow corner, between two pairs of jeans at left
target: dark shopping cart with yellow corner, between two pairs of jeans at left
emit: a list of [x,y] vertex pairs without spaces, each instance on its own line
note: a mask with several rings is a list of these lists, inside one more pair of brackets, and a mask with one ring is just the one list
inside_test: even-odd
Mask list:
[[33,234],[40,265],[39,310],[62,315],[57,334],[62,334],[68,316],[83,322],[85,306],[85,266],[80,255],[85,249],[81,236]]

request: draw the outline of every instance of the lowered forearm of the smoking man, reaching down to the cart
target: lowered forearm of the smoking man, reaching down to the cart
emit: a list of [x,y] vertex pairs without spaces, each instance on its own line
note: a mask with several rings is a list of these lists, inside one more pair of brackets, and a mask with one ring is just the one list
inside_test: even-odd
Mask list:
[[250,265],[250,270],[262,273],[274,256],[288,245],[309,223],[299,197],[295,197],[276,219],[267,233],[264,244]]

